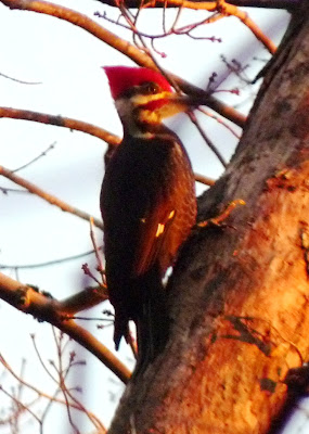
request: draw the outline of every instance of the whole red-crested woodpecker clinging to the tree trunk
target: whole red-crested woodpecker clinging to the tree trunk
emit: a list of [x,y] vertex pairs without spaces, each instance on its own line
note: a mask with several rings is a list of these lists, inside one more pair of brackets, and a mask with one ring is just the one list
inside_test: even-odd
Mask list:
[[138,366],[144,366],[167,341],[162,279],[196,219],[189,157],[177,135],[162,124],[188,104],[157,72],[125,66],[104,71],[124,126],[101,191],[114,341],[118,349],[133,320]]

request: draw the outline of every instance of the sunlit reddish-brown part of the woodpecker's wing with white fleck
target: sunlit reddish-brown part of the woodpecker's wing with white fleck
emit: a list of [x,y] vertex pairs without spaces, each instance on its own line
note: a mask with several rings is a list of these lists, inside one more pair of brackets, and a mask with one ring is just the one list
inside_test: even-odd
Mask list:
[[[170,230],[176,210],[170,203],[162,201],[155,209],[140,218],[139,241],[133,264],[133,276],[145,273],[159,257],[160,248]],[[165,272],[165,270],[162,270]]]

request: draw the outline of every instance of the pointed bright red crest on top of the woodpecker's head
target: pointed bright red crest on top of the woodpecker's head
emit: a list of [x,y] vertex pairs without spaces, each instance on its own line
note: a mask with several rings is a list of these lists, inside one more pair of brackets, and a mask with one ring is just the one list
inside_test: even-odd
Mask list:
[[131,66],[104,66],[107,75],[111,92],[116,100],[126,89],[140,86],[145,81],[154,81],[168,92],[172,91],[170,84],[159,73],[145,67]]

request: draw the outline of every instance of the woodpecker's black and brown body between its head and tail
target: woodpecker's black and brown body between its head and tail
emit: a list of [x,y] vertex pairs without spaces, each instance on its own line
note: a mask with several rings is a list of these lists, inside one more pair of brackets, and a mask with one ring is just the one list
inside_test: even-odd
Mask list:
[[125,137],[102,186],[106,280],[115,307],[116,345],[126,335],[129,319],[141,321],[150,299],[157,298],[159,315],[162,278],[195,224],[190,161],[178,137],[164,131],[152,139]]

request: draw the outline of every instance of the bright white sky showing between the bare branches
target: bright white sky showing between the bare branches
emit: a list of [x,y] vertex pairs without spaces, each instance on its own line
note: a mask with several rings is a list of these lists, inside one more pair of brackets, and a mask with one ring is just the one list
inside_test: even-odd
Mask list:
[[[93,16],[96,10],[100,12],[105,10],[108,16],[116,18],[118,14],[111,8],[90,0],[66,0],[62,4],[76,8],[112,31],[129,38],[127,30]],[[262,10],[254,9],[247,12],[274,41],[280,40],[287,21],[285,12],[265,13]],[[162,33],[158,25],[162,23],[162,11],[147,11],[144,15],[143,29],[149,33]],[[168,17],[172,20],[172,16],[175,12],[168,11]],[[184,21],[194,22],[204,16],[203,12],[188,11]],[[259,49],[257,53],[259,58],[269,58],[250,31],[233,17],[204,27],[199,34],[222,38],[222,43],[207,40],[193,41],[186,37],[160,39],[156,47],[167,54],[166,59],[159,60],[162,66],[186,80],[206,87],[208,77],[214,71],[219,77],[224,77],[227,74],[224,65],[219,63],[221,53],[229,60],[237,59],[244,64],[249,63],[250,66],[246,69],[249,79],[254,78],[263,65],[252,59],[256,50]],[[90,122],[121,135],[120,123],[101,66],[131,65],[131,61],[68,23],[41,14],[11,11],[1,4],[0,40],[2,41],[0,74],[21,80],[41,82],[26,86],[0,75],[1,105],[61,114]],[[219,88],[232,87],[234,84],[229,79]],[[246,91],[240,97],[222,93],[218,95],[220,98],[224,95],[231,104],[239,104],[240,110],[248,108]],[[180,119],[181,122],[176,118],[171,125],[179,128],[178,132],[189,150],[194,170],[209,177],[219,176],[222,170],[220,163],[201,141],[188,119],[184,116]],[[229,157],[236,139],[214,120],[205,120],[204,128],[218,149]],[[240,132],[237,128],[234,129]],[[105,151],[101,140],[63,128],[11,119],[0,120],[0,164],[10,169],[25,164],[55,142],[55,148],[46,157],[22,170],[20,175],[100,218],[99,193]],[[0,178],[0,187],[15,186]],[[36,264],[91,250],[89,225],[86,221],[64,214],[38,197],[16,193],[4,195],[0,192],[0,264],[14,266]],[[101,243],[102,234],[100,231],[96,233]],[[80,291],[89,283],[80,269],[85,261],[94,266],[91,258],[87,257],[52,267],[18,270],[18,278],[22,282],[36,284],[41,290],[51,292],[54,297],[62,298]],[[16,276],[13,269],[7,269],[5,272],[14,278]],[[106,308],[105,305],[102,306],[86,314],[99,316],[101,310]],[[53,391],[53,385],[50,384],[34,355],[29,337],[29,333],[36,333],[44,360],[55,359],[50,327],[38,323],[31,317],[25,317],[4,303],[0,304],[0,327],[1,330],[8,330],[1,333],[0,352],[12,367],[18,371],[21,360],[25,358],[26,379],[38,384],[43,391]],[[88,323],[88,327],[113,349],[112,328],[102,332],[96,330],[95,323]],[[75,346],[75,350],[79,359],[87,357],[87,353],[80,347]],[[121,345],[119,357],[132,366],[130,350],[125,344]],[[4,380],[3,386],[9,388],[11,384],[9,375],[3,376],[1,372],[0,368],[0,378]],[[79,369],[79,372],[85,378],[75,376],[73,384],[82,385],[82,400],[104,423],[108,423],[116,405],[111,403],[111,393],[119,397],[123,390],[120,382],[92,356],[87,359],[87,368]],[[4,396],[0,394],[0,409],[8,406],[5,403]],[[44,433],[61,432],[64,417],[60,419],[57,412],[51,413]],[[25,417],[24,420],[29,419]],[[36,422],[27,423],[26,426],[21,432],[25,434],[39,432]],[[90,432],[91,426],[87,425],[80,430],[83,433]],[[69,433],[70,430],[66,431],[64,426],[63,433],[65,432]],[[9,434],[10,430],[1,429],[0,425],[0,434],[7,433]]]

